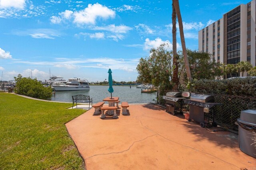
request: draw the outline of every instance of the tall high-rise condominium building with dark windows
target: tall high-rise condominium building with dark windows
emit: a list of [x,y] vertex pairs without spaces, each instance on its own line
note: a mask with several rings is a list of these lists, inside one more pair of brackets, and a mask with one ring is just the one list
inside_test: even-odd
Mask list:
[[215,61],[224,64],[248,61],[255,66],[255,19],[256,0],[237,6],[198,32],[199,51],[211,53]]

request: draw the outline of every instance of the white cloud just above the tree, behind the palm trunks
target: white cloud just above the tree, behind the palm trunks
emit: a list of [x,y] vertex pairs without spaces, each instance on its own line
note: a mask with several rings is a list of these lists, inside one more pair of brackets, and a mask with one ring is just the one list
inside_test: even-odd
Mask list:
[[[168,50],[172,50],[172,43],[170,43],[169,40],[166,40],[166,41],[163,41],[161,38],[157,37],[156,39],[154,40],[150,40],[149,38],[145,39],[145,42],[144,42],[144,47],[143,49],[144,50],[150,50],[152,48],[157,48],[159,47],[161,44],[166,44],[166,49]],[[177,43],[177,49],[180,48],[180,45]]]

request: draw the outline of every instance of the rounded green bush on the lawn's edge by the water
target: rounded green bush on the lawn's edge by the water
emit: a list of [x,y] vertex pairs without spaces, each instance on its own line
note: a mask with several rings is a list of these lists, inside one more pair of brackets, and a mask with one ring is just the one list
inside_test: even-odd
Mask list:
[[14,92],[20,95],[29,96],[38,99],[48,99],[51,97],[52,89],[44,87],[40,82],[35,79],[22,77],[18,74],[14,77],[16,86]]

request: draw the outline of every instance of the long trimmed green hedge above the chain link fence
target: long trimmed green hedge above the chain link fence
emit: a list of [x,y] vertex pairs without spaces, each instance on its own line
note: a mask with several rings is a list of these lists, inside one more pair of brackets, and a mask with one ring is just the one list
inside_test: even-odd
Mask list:
[[198,80],[190,91],[204,94],[255,97],[256,78],[233,78],[226,80]]

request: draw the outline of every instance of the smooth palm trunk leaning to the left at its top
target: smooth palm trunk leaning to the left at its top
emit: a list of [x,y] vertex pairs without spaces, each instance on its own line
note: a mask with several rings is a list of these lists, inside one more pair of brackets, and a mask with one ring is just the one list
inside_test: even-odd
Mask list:
[[182,45],[182,51],[183,51],[188,81],[192,82],[190,67],[189,67],[189,63],[188,63],[188,54],[186,51],[186,44],[185,44],[185,38],[184,38],[184,32],[183,32],[182,18],[181,18],[181,14],[180,14],[179,0],[172,0],[172,3],[174,5],[174,8],[175,8],[176,14],[177,14],[177,18],[178,18],[178,23],[179,23],[179,28],[180,28],[180,40],[181,40],[181,45]]

